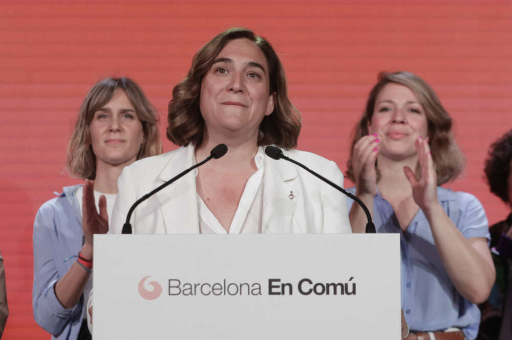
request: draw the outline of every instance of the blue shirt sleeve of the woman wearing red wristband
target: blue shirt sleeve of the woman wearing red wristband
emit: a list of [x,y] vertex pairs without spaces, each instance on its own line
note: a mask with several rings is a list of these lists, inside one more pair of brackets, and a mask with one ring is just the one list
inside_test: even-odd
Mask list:
[[[55,207],[45,203],[34,220],[34,284],[32,309],[35,322],[51,334],[59,334],[76,314],[81,314],[83,297],[73,306],[64,308],[55,295],[55,283],[60,279],[51,239],[55,226]],[[56,236],[55,236],[56,237]]]

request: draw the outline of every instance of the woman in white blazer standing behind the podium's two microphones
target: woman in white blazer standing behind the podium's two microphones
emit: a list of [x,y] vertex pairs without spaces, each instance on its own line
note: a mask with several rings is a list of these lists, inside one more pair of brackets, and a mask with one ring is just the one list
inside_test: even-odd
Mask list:
[[265,154],[285,149],[334,183],[334,162],[293,149],[301,128],[283,66],[270,43],[247,29],[230,29],[196,53],[174,87],[167,138],[180,146],[126,167],[119,177],[110,233],[144,194],[210,155],[227,153],[189,172],[135,209],[136,234],[350,233],[343,194],[295,165]]

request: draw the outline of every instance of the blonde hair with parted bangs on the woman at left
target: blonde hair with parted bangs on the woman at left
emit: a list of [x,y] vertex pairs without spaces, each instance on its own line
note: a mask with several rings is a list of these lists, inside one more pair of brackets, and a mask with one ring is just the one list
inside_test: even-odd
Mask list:
[[162,143],[157,126],[158,114],[140,86],[126,77],[106,78],[91,88],[80,106],[78,120],[71,135],[66,156],[66,169],[70,175],[82,179],[96,177],[96,156],[91,147],[90,125],[94,112],[108,103],[118,88],[126,93],[142,123],[144,141],[137,153],[137,160],[162,153]]

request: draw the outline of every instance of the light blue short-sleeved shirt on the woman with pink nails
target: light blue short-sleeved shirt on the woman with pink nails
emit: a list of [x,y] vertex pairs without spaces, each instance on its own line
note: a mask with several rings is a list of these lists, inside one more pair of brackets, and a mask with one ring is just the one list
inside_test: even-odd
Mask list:
[[[355,194],[355,188],[350,188]],[[437,188],[441,206],[468,239],[490,240],[487,217],[478,199],[468,193]],[[348,208],[353,200],[348,199]],[[400,233],[401,307],[411,331],[462,329],[473,340],[480,325],[478,306],[465,300],[446,273],[425,215],[418,211],[402,232],[390,203],[379,193],[373,199],[373,222],[378,233]]]

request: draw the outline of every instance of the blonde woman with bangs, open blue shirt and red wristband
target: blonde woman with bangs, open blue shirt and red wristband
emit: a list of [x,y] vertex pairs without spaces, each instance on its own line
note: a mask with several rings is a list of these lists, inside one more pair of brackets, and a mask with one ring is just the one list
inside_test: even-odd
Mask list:
[[91,338],[84,310],[92,287],[93,234],[108,231],[121,170],[161,153],[157,122],[153,105],[129,78],[99,81],[80,106],[66,167],[86,184],[63,188],[34,221],[32,308],[52,339]]

